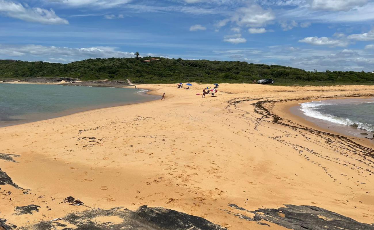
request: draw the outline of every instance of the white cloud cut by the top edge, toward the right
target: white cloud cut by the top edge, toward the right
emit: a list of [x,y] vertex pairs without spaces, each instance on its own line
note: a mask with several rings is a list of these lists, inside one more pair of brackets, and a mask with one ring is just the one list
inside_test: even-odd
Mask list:
[[348,11],[356,6],[363,6],[368,0],[313,0],[312,9]]

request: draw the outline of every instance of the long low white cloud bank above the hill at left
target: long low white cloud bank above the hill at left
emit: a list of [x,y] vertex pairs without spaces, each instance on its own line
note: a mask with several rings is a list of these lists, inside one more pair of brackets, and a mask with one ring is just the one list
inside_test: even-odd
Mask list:
[[25,45],[25,46],[9,46],[0,45],[0,54],[4,56],[34,56],[34,57],[50,57],[53,62],[74,59],[82,60],[87,58],[122,58],[134,56],[131,52],[122,52],[116,50],[115,47],[56,47],[41,45]]

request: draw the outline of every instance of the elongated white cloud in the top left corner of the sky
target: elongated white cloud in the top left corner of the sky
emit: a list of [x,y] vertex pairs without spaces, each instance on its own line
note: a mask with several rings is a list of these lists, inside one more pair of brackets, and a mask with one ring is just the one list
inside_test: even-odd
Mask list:
[[39,22],[43,24],[69,24],[66,19],[60,18],[50,9],[29,7],[27,4],[14,3],[13,1],[0,0],[0,13],[28,22]]

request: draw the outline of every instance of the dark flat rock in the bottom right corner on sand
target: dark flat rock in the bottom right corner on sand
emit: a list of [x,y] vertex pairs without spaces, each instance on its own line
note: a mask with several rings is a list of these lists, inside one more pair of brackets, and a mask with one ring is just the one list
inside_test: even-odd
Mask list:
[[253,218],[250,218],[226,210],[229,214],[241,219],[249,221],[265,220],[294,230],[374,230],[373,225],[360,223],[352,218],[316,206],[285,205],[286,208],[258,209],[256,211],[248,211],[234,204],[229,206],[255,214]]

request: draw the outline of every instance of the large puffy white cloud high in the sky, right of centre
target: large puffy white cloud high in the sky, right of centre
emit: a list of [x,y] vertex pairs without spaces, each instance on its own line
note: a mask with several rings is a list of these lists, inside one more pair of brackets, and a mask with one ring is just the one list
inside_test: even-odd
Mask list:
[[264,10],[259,5],[240,7],[236,10],[232,18],[240,26],[261,27],[275,19],[275,14],[271,9]]

